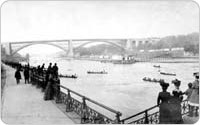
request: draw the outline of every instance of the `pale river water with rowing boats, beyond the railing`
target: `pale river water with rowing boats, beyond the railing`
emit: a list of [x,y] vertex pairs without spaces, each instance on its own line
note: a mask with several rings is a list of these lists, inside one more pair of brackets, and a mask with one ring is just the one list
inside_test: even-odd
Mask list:
[[[37,66],[56,62],[61,74],[77,74],[77,79],[61,78],[61,84],[97,102],[111,107],[123,117],[136,114],[154,106],[161,87],[158,83],[145,82],[144,77],[164,79],[170,83],[168,91],[174,89],[171,81],[181,80],[180,89],[185,91],[187,84],[194,81],[193,72],[199,71],[199,63],[149,63],[131,65],[101,63],[97,61],[69,60],[60,58],[32,58],[30,64]],[[176,73],[176,76],[160,75],[160,71]],[[87,74],[87,71],[105,70],[108,74]],[[72,95],[73,96],[73,95]],[[101,109],[99,109],[101,110]],[[103,110],[100,112],[104,112]]]

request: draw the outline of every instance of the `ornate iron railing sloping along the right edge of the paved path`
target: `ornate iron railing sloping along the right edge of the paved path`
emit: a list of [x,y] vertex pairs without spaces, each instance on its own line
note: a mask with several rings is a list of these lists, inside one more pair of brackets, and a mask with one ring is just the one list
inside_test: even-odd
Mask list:
[[[37,87],[43,88],[46,83],[45,75],[40,76],[37,72],[33,72],[31,75],[31,82],[32,84],[36,85]],[[66,112],[74,111],[81,117],[81,123],[92,123],[92,124],[109,124],[109,123],[120,123],[120,116],[122,115],[119,111],[116,111],[108,106],[105,106],[97,101],[94,101],[80,93],[77,93],[65,86],[60,85],[59,79],[54,79],[53,83],[54,88],[54,99],[56,103],[64,103],[66,105]],[[61,91],[62,89],[62,91]],[[77,98],[72,96],[75,95],[79,97]],[[103,108],[106,112],[110,114],[114,114],[112,118],[106,116],[103,113],[100,113],[95,108],[91,108],[88,103],[92,103],[95,105]]]

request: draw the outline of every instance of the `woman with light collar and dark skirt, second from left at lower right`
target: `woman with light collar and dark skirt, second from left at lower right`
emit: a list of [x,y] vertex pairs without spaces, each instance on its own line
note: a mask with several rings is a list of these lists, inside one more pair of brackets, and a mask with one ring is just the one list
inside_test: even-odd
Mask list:
[[183,100],[183,92],[179,89],[181,81],[175,79],[172,83],[174,84],[175,89],[172,91],[172,97],[170,99],[171,123],[182,124],[181,102]]

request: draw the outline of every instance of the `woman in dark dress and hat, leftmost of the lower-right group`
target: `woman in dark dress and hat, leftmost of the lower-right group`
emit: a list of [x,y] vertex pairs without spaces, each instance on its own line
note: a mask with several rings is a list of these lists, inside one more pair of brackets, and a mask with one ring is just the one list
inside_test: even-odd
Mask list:
[[160,81],[160,86],[162,87],[162,92],[159,92],[157,98],[157,105],[159,105],[159,123],[160,124],[169,124],[170,123],[170,107],[169,107],[169,99],[170,93],[167,92],[167,88],[169,86],[168,83],[164,81]]

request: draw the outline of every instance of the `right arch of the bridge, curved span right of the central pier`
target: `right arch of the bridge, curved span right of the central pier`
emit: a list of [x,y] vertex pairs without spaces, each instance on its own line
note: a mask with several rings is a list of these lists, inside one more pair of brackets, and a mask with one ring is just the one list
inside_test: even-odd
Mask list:
[[111,44],[111,45],[113,45],[113,46],[115,46],[115,47],[117,47],[117,48],[120,48],[121,50],[125,51],[125,48],[124,48],[123,46],[121,46],[121,45],[119,45],[119,44],[116,44],[116,43],[113,43],[113,42],[109,42],[109,41],[89,41],[89,42],[86,42],[86,43],[83,43],[83,44],[77,46],[77,47],[75,48],[75,50],[78,50],[79,48],[81,48],[81,47],[83,47],[83,46],[85,46],[85,45],[87,45],[87,44],[95,43],[95,42],[108,43],[108,44]]

